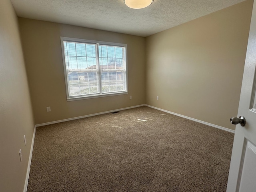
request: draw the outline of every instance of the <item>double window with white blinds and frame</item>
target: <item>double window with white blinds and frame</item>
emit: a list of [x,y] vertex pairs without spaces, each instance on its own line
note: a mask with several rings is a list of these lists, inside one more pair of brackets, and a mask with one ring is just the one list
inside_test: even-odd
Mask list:
[[126,44],[60,39],[68,100],[127,94]]

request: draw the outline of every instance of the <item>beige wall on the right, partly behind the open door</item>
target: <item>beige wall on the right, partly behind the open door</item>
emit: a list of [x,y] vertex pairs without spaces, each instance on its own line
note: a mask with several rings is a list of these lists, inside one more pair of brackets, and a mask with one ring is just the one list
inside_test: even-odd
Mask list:
[[234,129],[252,4],[147,37],[146,104]]

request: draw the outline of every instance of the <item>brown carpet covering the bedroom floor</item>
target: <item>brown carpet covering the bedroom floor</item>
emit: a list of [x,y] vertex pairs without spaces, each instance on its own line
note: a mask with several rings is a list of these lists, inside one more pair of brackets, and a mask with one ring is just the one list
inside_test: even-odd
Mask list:
[[42,126],[27,191],[226,192],[233,138],[146,106]]

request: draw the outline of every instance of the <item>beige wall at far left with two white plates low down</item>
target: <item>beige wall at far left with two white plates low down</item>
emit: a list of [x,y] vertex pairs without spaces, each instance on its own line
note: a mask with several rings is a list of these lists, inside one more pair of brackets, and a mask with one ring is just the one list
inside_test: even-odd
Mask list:
[[[0,191],[22,192],[34,131],[18,19],[0,1]],[[23,136],[26,135],[25,146]],[[22,150],[20,162],[19,150]]]

